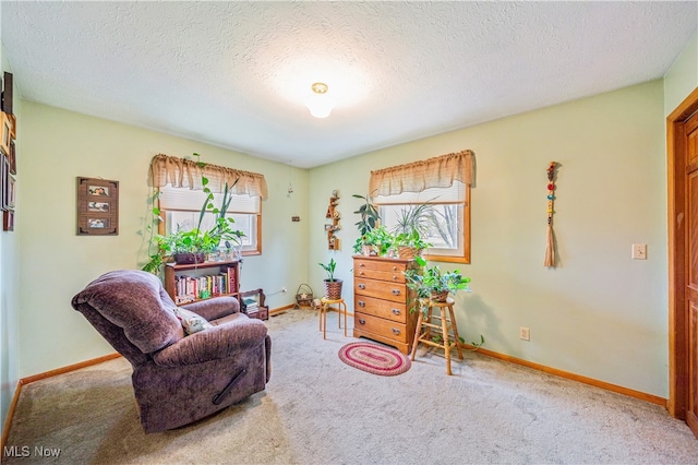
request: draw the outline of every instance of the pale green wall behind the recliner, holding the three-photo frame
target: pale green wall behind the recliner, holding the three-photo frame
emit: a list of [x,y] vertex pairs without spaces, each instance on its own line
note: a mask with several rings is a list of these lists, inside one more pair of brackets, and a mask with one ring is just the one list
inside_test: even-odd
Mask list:
[[[293,169],[296,191],[287,196],[290,170],[277,164],[167,134],[25,102],[22,182],[17,222],[22,377],[112,353],[70,301],[89,281],[118,269],[140,267],[146,258],[142,233],[149,219],[147,172],[157,153],[186,157],[265,176],[263,254],[242,265],[243,289],[296,289],[306,275],[308,171]],[[75,178],[119,181],[119,235],[75,235]],[[292,293],[268,298],[272,308]]]

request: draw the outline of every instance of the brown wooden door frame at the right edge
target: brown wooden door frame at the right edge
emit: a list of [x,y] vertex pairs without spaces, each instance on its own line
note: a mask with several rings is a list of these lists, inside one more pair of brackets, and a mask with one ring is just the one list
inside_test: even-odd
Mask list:
[[688,322],[686,299],[686,146],[684,122],[698,111],[698,87],[666,117],[669,224],[669,401],[670,415],[686,419]]

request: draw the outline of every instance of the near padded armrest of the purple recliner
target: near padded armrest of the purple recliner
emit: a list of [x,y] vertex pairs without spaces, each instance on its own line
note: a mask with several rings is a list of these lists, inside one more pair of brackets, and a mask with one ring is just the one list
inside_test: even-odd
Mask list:
[[237,319],[179,339],[153,355],[160,367],[179,367],[231,357],[255,346],[262,346],[267,335],[260,320]]

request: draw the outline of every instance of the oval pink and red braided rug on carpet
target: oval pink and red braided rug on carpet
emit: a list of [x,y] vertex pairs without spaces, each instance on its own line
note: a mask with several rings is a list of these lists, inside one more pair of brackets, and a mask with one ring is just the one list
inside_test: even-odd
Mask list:
[[350,367],[382,377],[394,377],[410,369],[410,359],[399,351],[368,343],[350,343],[339,349],[339,359]]

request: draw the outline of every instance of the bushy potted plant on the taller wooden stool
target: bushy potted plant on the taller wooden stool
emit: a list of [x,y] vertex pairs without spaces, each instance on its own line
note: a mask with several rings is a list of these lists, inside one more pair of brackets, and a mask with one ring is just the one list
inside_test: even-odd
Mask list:
[[470,278],[464,276],[460,271],[442,272],[438,265],[426,266],[426,261],[419,255],[414,257],[414,261],[419,267],[407,270],[405,278],[407,287],[414,290],[420,301],[444,302],[449,294],[468,289]]

